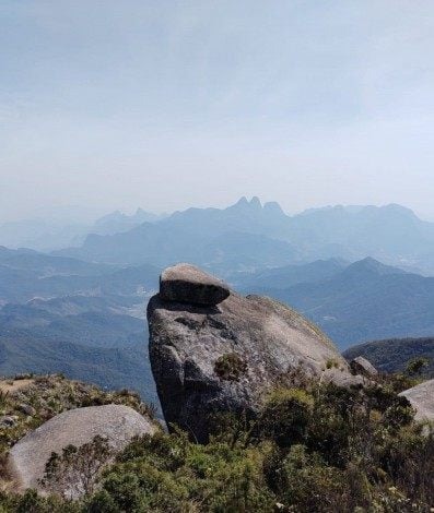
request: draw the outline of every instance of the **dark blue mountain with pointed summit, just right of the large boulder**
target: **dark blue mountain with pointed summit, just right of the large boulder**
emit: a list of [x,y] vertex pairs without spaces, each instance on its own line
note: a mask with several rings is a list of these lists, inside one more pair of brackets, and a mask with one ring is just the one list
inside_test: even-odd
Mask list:
[[262,289],[316,322],[341,348],[434,333],[434,278],[365,259],[330,279]]

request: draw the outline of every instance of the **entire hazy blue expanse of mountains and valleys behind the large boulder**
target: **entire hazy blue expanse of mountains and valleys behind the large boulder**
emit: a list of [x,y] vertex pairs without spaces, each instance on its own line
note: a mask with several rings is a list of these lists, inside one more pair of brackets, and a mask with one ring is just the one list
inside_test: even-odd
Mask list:
[[154,401],[145,306],[161,269],[178,261],[291,305],[341,349],[433,336],[434,277],[415,272],[434,273],[433,227],[398,205],[291,217],[243,198],[165,218],[113,213],[93,225],[99,235],[50,254],[0,247],[0,373],[124,380]]

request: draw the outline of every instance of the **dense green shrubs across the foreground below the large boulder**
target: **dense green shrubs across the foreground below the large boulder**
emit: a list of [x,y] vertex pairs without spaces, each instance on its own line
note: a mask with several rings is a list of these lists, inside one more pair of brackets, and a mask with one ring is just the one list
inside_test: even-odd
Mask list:
[[434,504],[434,433],[413,415],[392,380],[279,387],[256,418],[215,418],[208,444],[176,427],[136,438],[94,492],[60,502],[64,510],[59,498],[32,492],[3,494],[0,504],[42,513],[47,504],[81,513],[424,513]]

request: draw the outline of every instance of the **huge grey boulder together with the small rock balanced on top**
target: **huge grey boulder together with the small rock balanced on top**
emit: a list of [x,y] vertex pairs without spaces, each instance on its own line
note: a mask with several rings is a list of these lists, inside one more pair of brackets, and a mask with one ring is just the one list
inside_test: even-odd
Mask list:
[[[175,270],[171,294],[163,284],[173,271],[163,273],[163,294],[148,306],[152,371],[168,425],[206,441],[210,414],[255,414],[267,389],[298,368],[339,384],[357,381],[326,335],[295,311],[233,291],[214,305],[214,278],[191,266]],[[191,290],[201,290],[200,301]]]

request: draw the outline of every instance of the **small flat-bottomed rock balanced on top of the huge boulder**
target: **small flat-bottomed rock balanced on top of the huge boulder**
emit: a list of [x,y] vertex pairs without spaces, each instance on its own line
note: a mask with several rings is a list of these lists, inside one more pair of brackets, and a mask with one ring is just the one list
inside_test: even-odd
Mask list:
[[160,278],[160,295],[166,301],[219,305],[230,295],[227,285],[190,264],[167,267]]

